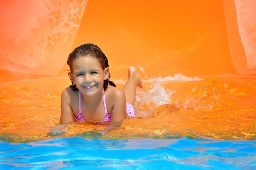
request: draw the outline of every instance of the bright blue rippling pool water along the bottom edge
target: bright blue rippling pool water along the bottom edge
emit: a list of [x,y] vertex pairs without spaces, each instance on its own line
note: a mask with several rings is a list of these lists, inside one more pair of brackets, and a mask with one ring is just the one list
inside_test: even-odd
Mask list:
[[255,170],[256,141],[55,138],[0,140],[0,170]]

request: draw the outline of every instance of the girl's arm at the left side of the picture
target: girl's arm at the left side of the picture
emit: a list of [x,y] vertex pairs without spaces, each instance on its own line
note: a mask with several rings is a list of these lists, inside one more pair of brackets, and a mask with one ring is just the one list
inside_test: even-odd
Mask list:
[[60,124],[67,124],[75,121],[75,116],[70,108],[70,95],[67,88],[61,94],[61,119]]

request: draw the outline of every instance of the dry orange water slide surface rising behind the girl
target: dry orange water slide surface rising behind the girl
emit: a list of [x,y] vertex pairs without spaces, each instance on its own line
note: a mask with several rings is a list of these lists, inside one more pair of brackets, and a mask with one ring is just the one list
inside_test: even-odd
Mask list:
[[3,0],[1,82],[67,75],[68,54],[89,42],[114,78],[135,63],[148,76],[256,74],[255,9],[253,0]]

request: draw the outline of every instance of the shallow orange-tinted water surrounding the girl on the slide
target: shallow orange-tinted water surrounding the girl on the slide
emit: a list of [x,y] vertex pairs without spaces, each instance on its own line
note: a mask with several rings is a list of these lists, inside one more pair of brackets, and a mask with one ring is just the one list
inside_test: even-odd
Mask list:
[[[170,103],[157,107],[149,119],[126,119],[121,130],[104,133],[101,137],[256,139],[256,77],[203,78],[201,81],[160,83],[165,91],[173,91]],[[56,77],[1,85],[0,136],[12,142],[52,138],[49,133],[59,123],[61,92],[69,84],[67,77]],[[117,86],[122,88],[123,85]],[[150,94],[147,92],[150,89],[152,83],[145,83],[142,92]],[[142,96],[138,100],[137,107],[142,110],[155,107],[154,103],[145,105]],[[104,128],[103,125],[74,122],[58,137]],[[84,136],[96,137],[96,134]]]

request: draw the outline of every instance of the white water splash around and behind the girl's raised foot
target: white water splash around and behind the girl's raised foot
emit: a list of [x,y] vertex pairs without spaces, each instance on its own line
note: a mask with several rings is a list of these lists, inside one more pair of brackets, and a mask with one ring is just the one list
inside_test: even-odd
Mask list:
[[[212,110],[213,106],[215,105],[215,101],[213,101],[211,104],[204,102],[205,99],[209,99],[209,96],[214,97],[215,100],[219,99],[218,94],[215,94],[215,87],[212,87],[210,89],[204,89],[204,91],[200,92],[200,95],[198,96],[198,88],[197,85],[195,85],[194,88],[192,88],[192,91],[190,94],[186,96],[185,100],[175,100],[173,98],[173,94],[176,93],[174,89],[177,87],[174,86],[174,89],[167,88],[169,86],[170,82],[198,82],[203,81],[204,79],[200,77],[187,77],[183,74],[175,74],[174,76],[166,76],[166,77],[152,77],[149,78],[145,70],[142,66],[140,66],[138,63],[135,63],[135,66],[139,68],[143,74],[145,74],[145,79],[143,79],[144,87],[142,90],[136,91],[136,102],[135,105],[140,110],[151,110],[152,108],[159,107],[161,105],[165,104],[172,104],[172,103],[178,103],[181,102],[180,105],[183,108],[194,108],[195,110],[200,109],[206,109],[208,111]],[[116,84],[125,84],[126,81],[119,79],[115,80]],[[170,87],[170,86],[169,86]],[[195,95],[197,94],[197,95]],[[212,98],[210,97],[210,98]],[[198,103],[201,103],[201,105],[198,105]]]

